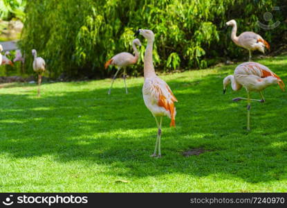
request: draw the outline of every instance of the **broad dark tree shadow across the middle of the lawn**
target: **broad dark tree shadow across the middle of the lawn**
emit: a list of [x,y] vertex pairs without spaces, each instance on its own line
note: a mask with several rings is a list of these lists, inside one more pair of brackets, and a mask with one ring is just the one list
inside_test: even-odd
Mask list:
[[[129,87],[129,94],[115,87],[110,96],[108,88],[41,98],[3,94],[0,153],[15,158],[52,155],[57,162],[88,161],[110,166],[109,175],[125,177],[223,173],[227,179],[252,183],[285,179],[287,99],[276,87],[266,89],[266,103],[252,103],[252,131],[246,132],[246,103],[232,102],[246,93],[222,94],[222,79],[229,71],[192,82],[168,82],[179,101],[177,127],[168,128],[164,119],[161,159],[149,157],[157,130],[142,101],[142,84]],[[189,148],[209,151],[183,157]]]

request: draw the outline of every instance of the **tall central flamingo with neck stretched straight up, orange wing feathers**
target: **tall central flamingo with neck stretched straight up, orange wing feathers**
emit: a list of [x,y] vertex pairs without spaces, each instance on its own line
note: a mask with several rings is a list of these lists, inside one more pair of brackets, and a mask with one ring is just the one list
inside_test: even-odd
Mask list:
[[[147,39],[147,49],[145,50],[144,59],[144,77],[145,82],[142,87],[142,95],[145,101],[145,105],[156,119],[156,125],[158,126],[158,137],[156,139],[156,146],[154,148],[154,154],[151,157],[161,157],[160,153],[160,137],[161,137],[161,125],[163,116],[168,116],[172,122],[170,126],[176,126],[176,107],[174,102],[177,102],[176,97],[172,94],[172,90],[164,80],[156,76],[153,64],[153,44],[154,44],[154,33],[150,30],[138,30],[135,35],[142,35]],[[160,117],[160,122],[158,122]],[[158,155],[156,150],[158,149]]]

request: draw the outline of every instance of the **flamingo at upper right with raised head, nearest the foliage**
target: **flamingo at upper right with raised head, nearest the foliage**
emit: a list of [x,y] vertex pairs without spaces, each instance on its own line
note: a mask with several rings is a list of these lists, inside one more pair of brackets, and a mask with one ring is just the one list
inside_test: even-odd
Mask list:
[[249,51],[249,61],[251,60],[251,51],[261,51],[264,53],[265,47],[270,49],[270,45],[260,35],[253,32],[244,32],[237,36],[237,22],[232,19],[226,22],[227,26],[232,26],[231,39],[234,44],[241,46]]

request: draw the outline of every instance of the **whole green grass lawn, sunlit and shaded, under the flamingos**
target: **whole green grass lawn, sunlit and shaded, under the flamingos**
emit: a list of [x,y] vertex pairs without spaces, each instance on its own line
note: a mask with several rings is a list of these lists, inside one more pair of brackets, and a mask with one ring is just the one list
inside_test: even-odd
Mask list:
[[[287,80],[287,56],[258,60]],[[287,98],[278,86],[252,103],[244,89],[222,93],[236,65],[160,76],[178,98],[176,128],[163,120],[162,154],[149,157],[156,123],[142,100],[143,78],[2,85],[0,191],[287,191]],[[252,98],[260,98],[252,93]],[[207,151],[184,157],[191,148]],[[124,182],[126,181],[126,182]]]

